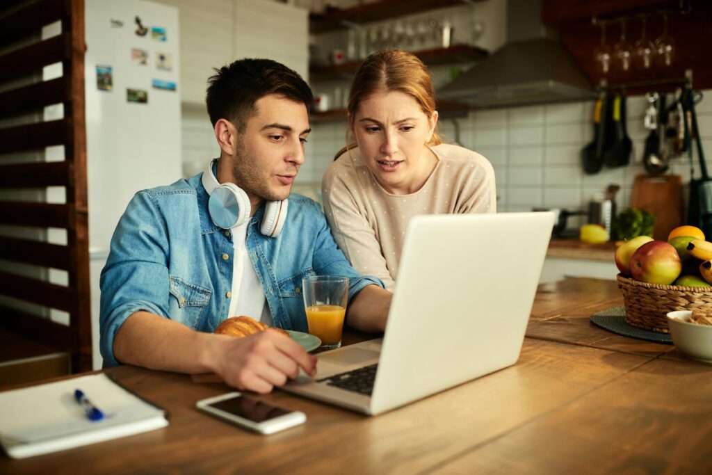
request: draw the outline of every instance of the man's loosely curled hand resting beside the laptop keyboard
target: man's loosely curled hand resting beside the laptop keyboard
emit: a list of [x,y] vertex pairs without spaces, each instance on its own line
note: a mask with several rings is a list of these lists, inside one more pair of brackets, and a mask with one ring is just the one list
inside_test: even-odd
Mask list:
[[294,340],[274,330],[244,338],[227,337],[216,350],[215,372],[240,390],[265,394],[287,379],[295,379],[299,367],[308,375],[316,372],[316,357]]

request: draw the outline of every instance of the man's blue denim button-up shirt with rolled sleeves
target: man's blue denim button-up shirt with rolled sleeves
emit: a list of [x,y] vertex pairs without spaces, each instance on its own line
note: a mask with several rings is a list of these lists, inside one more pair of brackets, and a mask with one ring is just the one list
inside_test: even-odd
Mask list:
[[[145,310],[204,332],[231,316],[232,234],[211,221],[201,176],[138,192],[116,226],[100,280],[106,367],[119,364],[114,338],[132,313]],[[246,248],[276,326],[308,330],[304,276],[347,276],[349,299],[369,284],[383,287],[378,278],[352,268],[311,199],[290,194],[287,219],[276,238],[261,234],[263,212],[264,204],[248,224]]]

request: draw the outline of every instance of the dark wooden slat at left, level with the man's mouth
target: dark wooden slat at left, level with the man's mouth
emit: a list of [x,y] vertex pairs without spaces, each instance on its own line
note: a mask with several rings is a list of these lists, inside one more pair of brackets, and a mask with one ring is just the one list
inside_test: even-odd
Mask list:
[[38,162],[0,165],[0,187],[66,187],[73,182],[69,162]]

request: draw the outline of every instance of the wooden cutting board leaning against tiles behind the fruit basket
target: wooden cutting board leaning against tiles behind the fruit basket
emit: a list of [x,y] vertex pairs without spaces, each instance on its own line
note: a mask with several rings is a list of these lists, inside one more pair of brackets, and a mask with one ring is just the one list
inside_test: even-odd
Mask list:
[[683,222],[682,177],[677,174],[639,174],[633,183],[630,206],[655,213],[653,237],[667,241],[670,231]]

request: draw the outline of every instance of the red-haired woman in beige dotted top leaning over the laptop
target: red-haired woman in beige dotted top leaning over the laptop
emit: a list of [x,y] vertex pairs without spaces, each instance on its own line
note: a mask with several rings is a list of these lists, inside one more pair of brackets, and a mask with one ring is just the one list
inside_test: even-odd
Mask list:
[[349,145],[322,181],[337,244],[357,271],[378,276],[391,291],[413,216],[496,212],[492,166],[441,142],[435,107],[431,75],[418,58],[399,50],[372,54],[351,84]]

